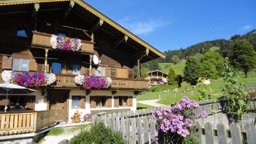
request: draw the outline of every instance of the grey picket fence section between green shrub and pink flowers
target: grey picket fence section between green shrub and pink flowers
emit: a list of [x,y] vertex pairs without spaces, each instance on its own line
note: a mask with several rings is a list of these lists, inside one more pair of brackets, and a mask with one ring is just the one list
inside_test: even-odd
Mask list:
[[155,119],[149,117],[101,117],[93,115],[92,123],[96,124],[103,121],[104,125],[111,127],[114,132],[122,132],[123,138],[127,143],[144,144],[151,143],[151,136],[156,136]]

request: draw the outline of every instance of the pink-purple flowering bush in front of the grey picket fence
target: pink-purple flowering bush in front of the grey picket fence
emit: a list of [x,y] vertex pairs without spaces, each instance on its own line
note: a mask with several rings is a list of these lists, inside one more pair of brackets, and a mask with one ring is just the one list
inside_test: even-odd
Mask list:
[[[154,110],[151,117],[157,119],[156,129],[159,131],[159,141],[164,143],[182,143],[187,139],[194,139],[190,135],[194,132],[195,110],[199,107],[196,101],[183,97],[181,101],[172,107]],[[169,141],[169,142],[168,142]],[[190,140],[189,140],[190,141]]]

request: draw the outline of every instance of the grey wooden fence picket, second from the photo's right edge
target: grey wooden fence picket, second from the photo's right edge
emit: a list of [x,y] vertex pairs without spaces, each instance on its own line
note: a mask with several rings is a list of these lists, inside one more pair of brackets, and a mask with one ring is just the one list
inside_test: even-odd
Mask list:
[[[231,131],[231,139],[233,144],[242,144],[242,138],[241,138],[241,132],[240,132],[240,126],[237,124],[231,124],[230,126]],[[254,141],[255,142],[255,141]]]

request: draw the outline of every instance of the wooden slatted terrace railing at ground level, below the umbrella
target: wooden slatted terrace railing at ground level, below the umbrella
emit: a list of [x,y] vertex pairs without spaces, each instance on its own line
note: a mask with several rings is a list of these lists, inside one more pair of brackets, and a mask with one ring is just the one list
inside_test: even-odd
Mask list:
[[36,132],[55,124],[55,111],[0,113],[0,136]]

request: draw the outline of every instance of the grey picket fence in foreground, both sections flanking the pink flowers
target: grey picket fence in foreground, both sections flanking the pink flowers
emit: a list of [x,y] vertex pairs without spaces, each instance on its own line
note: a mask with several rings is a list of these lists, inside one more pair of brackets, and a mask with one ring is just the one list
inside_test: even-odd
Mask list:
[[[151,143],[151,136],[157,136],[156,121],[149,117],[92,117],[93,124],[99,121],[103,121],[103,124],[111,127],[114,132],[121,132],[127,143]],[[212,128],[211,123],[205,123],[204,128],[196,123],[196,127],[202,144],[255,144],[256,141],[256,129],[253,125],[248,125],[245,130],[240,130],[237,124],[231,124],[230,128],[227,128],[223,123],[219,123],[216,129]]]

